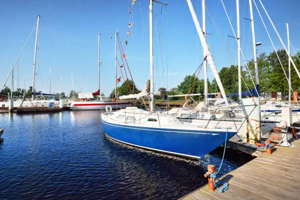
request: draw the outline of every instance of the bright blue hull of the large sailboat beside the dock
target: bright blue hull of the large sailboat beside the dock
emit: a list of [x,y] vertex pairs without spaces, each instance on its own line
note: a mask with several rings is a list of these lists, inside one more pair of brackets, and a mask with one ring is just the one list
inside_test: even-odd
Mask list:
[[[108,137],[154,151],[200,158],[225,143],[226,131],[182,130],[112,124],[102,119]],[[235,132],[228,130],[227,140]]]

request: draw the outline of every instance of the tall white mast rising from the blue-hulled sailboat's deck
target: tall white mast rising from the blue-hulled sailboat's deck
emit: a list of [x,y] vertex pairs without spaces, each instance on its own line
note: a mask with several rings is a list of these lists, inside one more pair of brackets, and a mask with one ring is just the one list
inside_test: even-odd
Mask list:
[[153,24],[152,24],[152,5],[153,2],[150,0],[149,3],[149,24],[150,24],[150,111],[154,110],[154,84],[153,84]]

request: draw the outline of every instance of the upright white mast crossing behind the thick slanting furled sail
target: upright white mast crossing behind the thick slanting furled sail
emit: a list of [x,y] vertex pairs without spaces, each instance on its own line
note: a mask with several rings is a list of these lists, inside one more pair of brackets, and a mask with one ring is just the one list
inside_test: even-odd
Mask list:
[[[203,34],[204,40],[206,41],[206,25],[205,25],[205,0],[202,0],[202,26],[203,26]],[[203,57],[206,55],[206,50],[203,48]],[[208,86],[207,86],[207,61],[205,60],[203,63],[204,69],[204,106],[207,106],[207,93],[208,93]]]

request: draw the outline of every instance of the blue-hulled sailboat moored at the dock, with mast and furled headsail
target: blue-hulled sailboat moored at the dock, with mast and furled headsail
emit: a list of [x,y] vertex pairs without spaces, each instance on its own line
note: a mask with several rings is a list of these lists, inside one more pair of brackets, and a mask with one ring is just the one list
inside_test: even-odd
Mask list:
[[[203,39],[203,32],[199,23],[197,25],[194,8],[191,1],[187,1],[202,46],[207,49],[208,62],[210,63],[221,92],[225,95],[211,53]],[[137,107],[127,107],[126,109],[116,112],[103,112],[101,114],[102,125],[108,137],[127,145],[198,159],[222,145],[225,140],[228,140],[236,134],[237,130],[205,127],[204,124],[203,126],[188,125],[180,122],[174,116],[154,111],[152,2],[153,0],[150,0],[149,5],[150,111],[144,111]],[[226,104],[228,104],[228,102]]]

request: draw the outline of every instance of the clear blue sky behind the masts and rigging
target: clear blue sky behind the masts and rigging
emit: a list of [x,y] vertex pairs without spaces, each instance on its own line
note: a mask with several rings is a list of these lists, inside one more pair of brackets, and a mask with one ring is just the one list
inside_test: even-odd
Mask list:
[[[154,87],[176,87],[185,75],[192,74],[202,60],[202,48],[186,0],[168,0],[168,6],[154,3],[153,44],[154,44]],[[201,22],[201,0],[192,0]],[[235,0],[224,0],[228,14],[236,28]],[[256,3],[259,3],[256,0]],[[279,34],[287,44],[286,25],[289,23],[290,40],[300,50],[300,1],[263,0]],[[118,32],[123,43],[129,68],[139,89],[150,77],[149,67],[149,1],[137,0],[133,5],[132,27],[128,28],[131,0],[0,0],[0,85],[4,83],[12,64],[19,55],[31,29],[40,15],[39,50],[36,68],[35,88],[49,92],[49,71],[51,68],[51,93],[59,92],[60,76],[62,91],[69,94],[71,71],[73,70],[74,89],[94,92],[98,89],[98,33],[101,32],[100,90],[109,95],[114,88],[114,32]],[[220,0],[207,0],[211,13],[230,53],[237,61],[236,41]],[[263,14],[263,10],[260,12]],[[253,5],[256,42],[263,44],[258,52],[273,50],[271,42]],[[241,44],[247,60],[253,56],[249,1],[240,0]],[[267,21],[268,30],[276,48],[282,48],[275,32]],[[234,64],[225,48],[221,36],[206,14],[206,29],[210,50],[218,70]],[[126,36],[126,31],[130,35]],[[160,40],[158,40],[158,35]],[[112,37],[112,39],[111,39]],[[125,46],[125,40],[128,45]],[[160,45],[159,45],[160,41]],[[29,88],[32,85],[33,54],[35,32],[31,36],[19,60],[19,85]],[[159,48],[159,46],[161,48]],[[292,54],[294,54],[291,48]],[[118,51],[120,57],[120,52]],[[118,69],[118,77],[120,72]],[[15,88],[17,88],[15,70]],[[203,73],[200,73],[200,78]],[[212,73],[208,69],[208,77]],[[168,80],[168,81],[167,81]],[[7,86],[11,87],[11,79]]]

